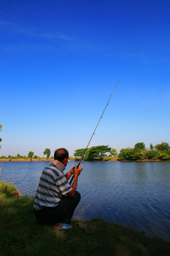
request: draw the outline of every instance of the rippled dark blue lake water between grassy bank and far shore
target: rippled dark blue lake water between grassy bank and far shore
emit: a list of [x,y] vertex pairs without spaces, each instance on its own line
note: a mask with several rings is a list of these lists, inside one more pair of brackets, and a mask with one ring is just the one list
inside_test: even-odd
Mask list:
[[[69,162],[68,172],[77,162]],[[20,194],[35,195],[49,162],[4,162],[1,180],[14,183]],[[77,190],[81,201],[74,219],[102,217],[170,240],[170,162],[83,162]],[[83,209],[82,209],[83,207]]]

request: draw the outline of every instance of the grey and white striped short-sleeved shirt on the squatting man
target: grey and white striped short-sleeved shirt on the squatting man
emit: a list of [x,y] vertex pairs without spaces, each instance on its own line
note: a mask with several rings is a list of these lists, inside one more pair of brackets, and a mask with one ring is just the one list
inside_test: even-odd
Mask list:
[[49,165],[41,174],[33,208],[40,210],[44,207],[55,207],[61,200],[61,196],[71,190],[62,170],[54,165]]

